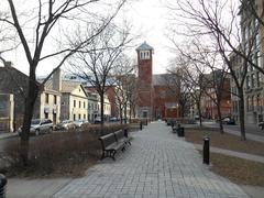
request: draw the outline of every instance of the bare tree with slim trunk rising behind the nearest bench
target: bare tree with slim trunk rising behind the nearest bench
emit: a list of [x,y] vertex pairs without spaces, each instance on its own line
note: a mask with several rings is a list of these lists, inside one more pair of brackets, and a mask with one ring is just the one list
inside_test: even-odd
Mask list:
[[100,96],[101,130],[103,128],[105,94],[108,87],[116,81],[113,68],[120,66],[118,58],[130,41],[128,29],[120,30],[111,24],[70,59],[70,65],[75,69],[73,73],[89,81]]

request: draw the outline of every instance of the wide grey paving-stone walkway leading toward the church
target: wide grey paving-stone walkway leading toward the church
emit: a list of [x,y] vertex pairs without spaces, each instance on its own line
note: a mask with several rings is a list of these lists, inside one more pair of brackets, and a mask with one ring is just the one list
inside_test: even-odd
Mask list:
[[164,122],[136,133],[117,161],[106,158],[74,179],[54,198],[246,198],[235,184],[202,165],[194,145]]

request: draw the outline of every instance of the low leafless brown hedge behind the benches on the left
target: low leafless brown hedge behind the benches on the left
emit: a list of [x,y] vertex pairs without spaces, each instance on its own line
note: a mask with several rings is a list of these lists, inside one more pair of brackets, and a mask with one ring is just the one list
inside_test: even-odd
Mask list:
[[[121,124],[106,125],[103,134],[124,128]],[[8,176],[82,175],[101,154],[100,129],[100,125],[85,125],[80,130],[31,138],[26,167],[20,160],[19,141],[11,142],[4,148],[9,167],[2,172]]]

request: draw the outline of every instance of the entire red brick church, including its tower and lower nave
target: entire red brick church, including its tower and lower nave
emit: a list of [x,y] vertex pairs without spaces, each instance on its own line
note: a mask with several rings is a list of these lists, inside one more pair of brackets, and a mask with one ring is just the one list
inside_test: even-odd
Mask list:
[[179,117],[179,79],[175,75],[153,75],[154,48],[144,42],[136,48],[139,65],[138,118],[165,119]]

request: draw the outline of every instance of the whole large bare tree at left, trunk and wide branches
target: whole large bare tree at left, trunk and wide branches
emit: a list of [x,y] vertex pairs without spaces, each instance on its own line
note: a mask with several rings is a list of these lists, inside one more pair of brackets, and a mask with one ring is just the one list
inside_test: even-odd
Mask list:
[[[100,13],[92,11],[97,3],[99,3],[98,0],[38,0],[36,4],[35,2],[32,4],[32,1],[23,1],[23,3],[21,3],[18,1],[14,2],[13,0],[7,0],[6,2],[6,6],[9,8],[9,13],[3,18],[1,16],[0,21],[16,32],[30,67],[29,91],[26,92],[25,98],[20,150],[22,162],[24,165],[28,165],[30,124],[38,90],[69,56],[80,50],[84,45],[90,43],[92,38],[105,30],[110,21],[117,15],[125,0],[114,1],[117,2],[116,7],[111,7],[113,12],[108,16],[100,16]],[[29,3],[25,9],[28,12],[20,12],[20,7],[25,8],[26,3]],[[32,9],[29,10],[30,8]],[[59,35],[59,30],[63,24],[74,26],[80,25],[81,22],[85,24],[98,23],[99,28],[91,30],[91,34],[87,37],[82,37],[74,45],[67,45],[62,38],[62,43],[57,50],[53,52],[48,51],[51,47],[48,41],[54,37],[63,36],[62,34]],[[56,32],[56,30],[58,32]],[[33,35],[31,34],[32,32]],[[50,54],[44,54],[45,50],[48,51]],[[58,58],[55,69],[46,77],[42,85],[38,86],[36,82],[37,66],[41,62],[54,57]]]

